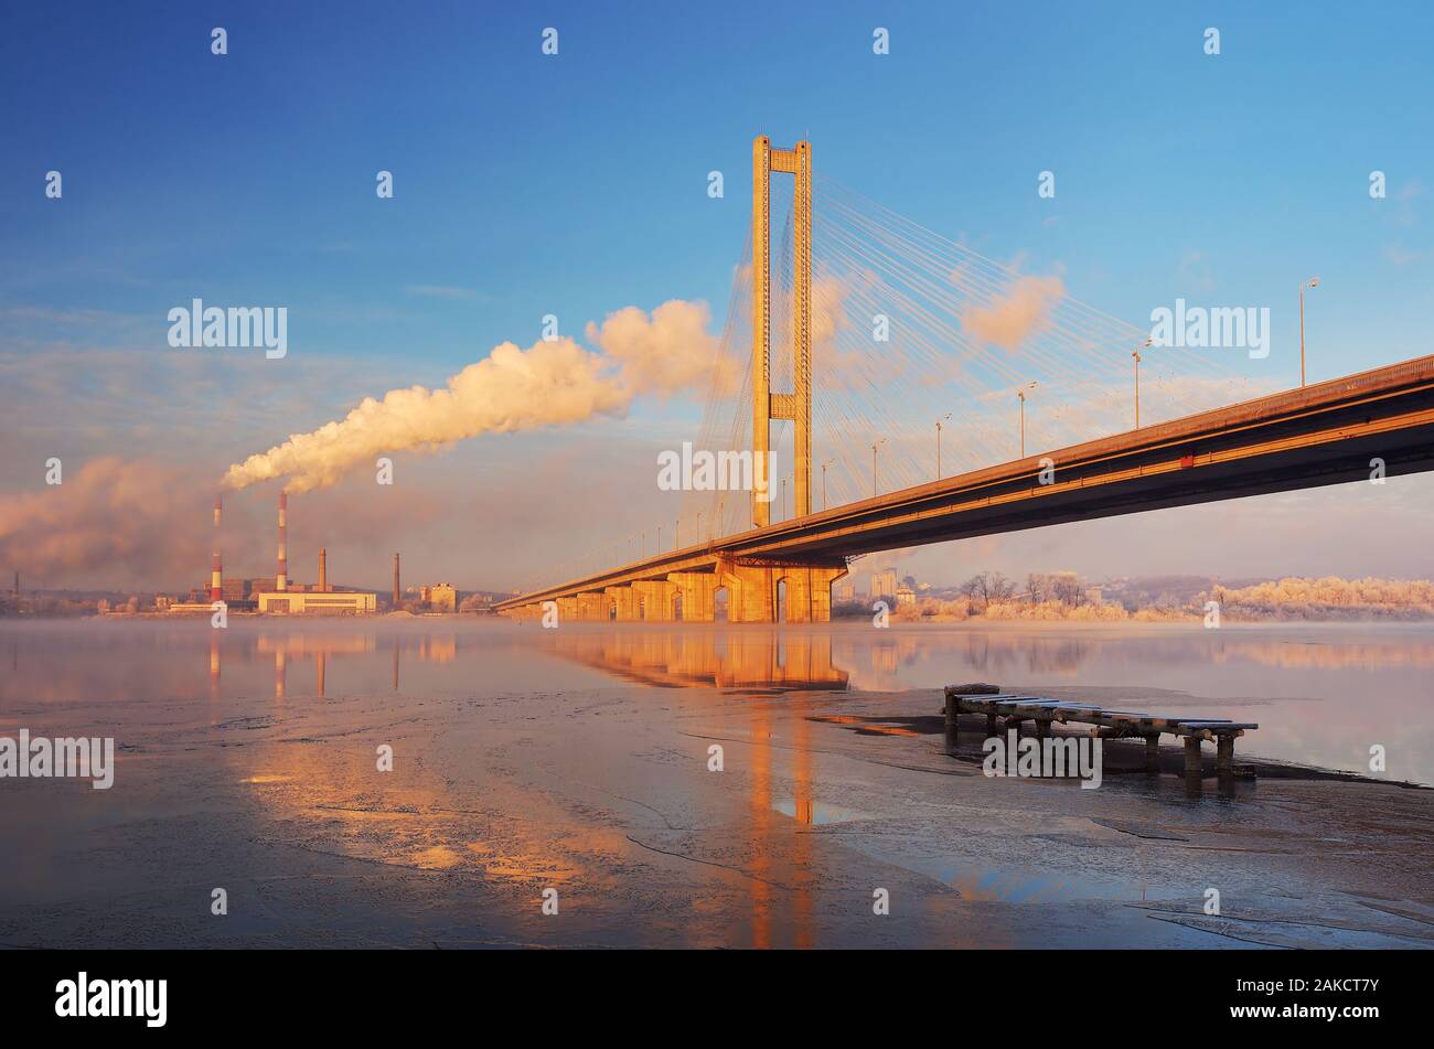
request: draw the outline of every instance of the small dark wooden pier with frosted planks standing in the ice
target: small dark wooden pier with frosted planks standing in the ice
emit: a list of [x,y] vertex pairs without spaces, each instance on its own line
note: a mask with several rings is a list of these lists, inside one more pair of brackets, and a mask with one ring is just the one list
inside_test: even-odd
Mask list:
[[1090,734],[1103,739],[1146,741],[1146,771],[1159,772],[1160,737],[1169,734],[1184,739],[1184,772],[1200,775],[1200,744],[1215,744],[1215,771],[1217,775],[1235,774],[1235,741],[1246,732],[1259,728],[1253,721],[1229,721],[1228,718],[1189,718],[1150,714],[1149,711],[1108,711],[1094,704],[1068,702],[1064,699],[1043,699],[1035,695],[1005,695],[999,691],[977,692],[987,685],[946,686],[946,734],[955,739],[959,731],[959,715],[984,714],[987,735],[995,735],[1001,724],[1005,728],[1020,728],[1021,722],[1035,725],[1035,735],[1050,735],[1053,724],[1088,725]]

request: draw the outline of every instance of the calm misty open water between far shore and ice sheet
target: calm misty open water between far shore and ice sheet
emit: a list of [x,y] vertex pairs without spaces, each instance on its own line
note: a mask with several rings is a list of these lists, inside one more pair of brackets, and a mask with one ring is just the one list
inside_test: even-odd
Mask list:
[[[0,731],[22,711],[122,701],[463,699],[627,684],[905,692],[988,681],[1120,689],[1124,708],[1248,719],[1239,752],[1434,782],[1427,625],[812,628],[490,619],[49,621],[0,625]],[[660,694],[652,702],[660,702]],[[136,706],[138,704],[138,706]],[[640,699],[641,704],[641,699]],[[906,701],[909,705],[909,701]],[[939,705],[939,704],[938,704]],[[281,708],[275,708],[275,715]],[[935,712],[935,708],[932,709]],[[118,712],[116,712],[118,714]],[[561,731],[561,725],[551,727]],[[1369,771],[1369,747],[1388,752]]]

